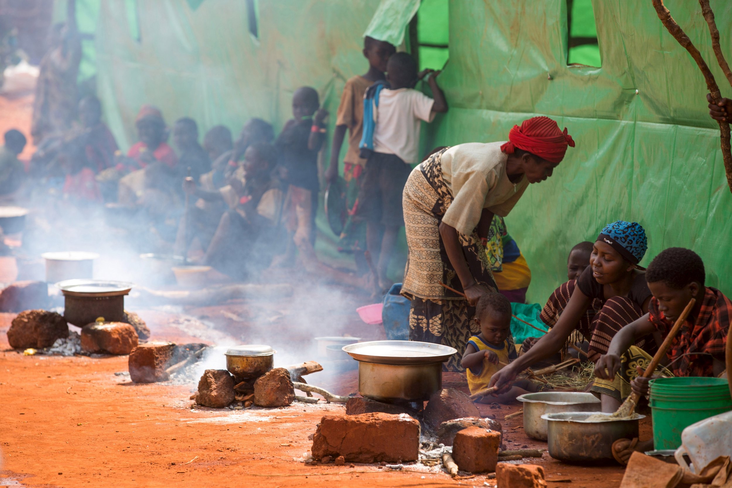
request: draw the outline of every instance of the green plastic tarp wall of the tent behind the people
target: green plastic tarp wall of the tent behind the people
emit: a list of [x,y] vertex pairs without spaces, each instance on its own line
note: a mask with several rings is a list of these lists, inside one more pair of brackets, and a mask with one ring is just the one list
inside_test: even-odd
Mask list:
[[[187,0],[138,1],[138,42],[124,1],[97,1],[97,92],[123,149],[135,141],[143,103],[160,106],[168,123],[193,117],[201,133],[217,124],[236,133],[250,117],[278,129],[291,117],[294,89],[310,85],[335,114],[343,83],[367,70],[362,34],[379,7],[377,0],[261,1],[255,40],[245,1],[206,0],[196,10]],[[665,4],[730,96],[698,3]],[[712,0],[730,57],[726,6]],[[425,147],[503,141],[534,115],[568,127],[577,147],[506,219],[531,267],[531,302],[543,303],[566,280],[572,245],[617,219],[646,228],[641,264],[663,248],[692,248],[706,263],[707,284],[730,294],[732,195],[701,73],[650,0],[592,7],[601,68],[567,66],[564,0],[449,1],[450,62],[438,80],[450,108],[427,125]]]

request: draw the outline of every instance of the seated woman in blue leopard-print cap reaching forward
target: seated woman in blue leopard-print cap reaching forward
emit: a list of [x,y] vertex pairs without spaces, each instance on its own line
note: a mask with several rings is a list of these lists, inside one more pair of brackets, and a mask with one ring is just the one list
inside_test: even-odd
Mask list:
[[[648,248],[646,232],[638,222],[616,221],[605,226],[597,236],[590,266],[577,280],[558,289],[569,297],[549,300],[556,308],[542,311],[542,320],[551,328],[528,352],[493,376],[491,386],[505,385],[529,366],[559,352],[574,330],[589,341],[588,355],[597,361],[608,352],[613,336],[624,325],[648,312],[651,291],[646,284],[644,268],[638,266]],[[556,292],[555,292],[556,293]],[[583,319],[588,312],[591,319]],[[653,354],[654,339],[644,338],[635,344]]]

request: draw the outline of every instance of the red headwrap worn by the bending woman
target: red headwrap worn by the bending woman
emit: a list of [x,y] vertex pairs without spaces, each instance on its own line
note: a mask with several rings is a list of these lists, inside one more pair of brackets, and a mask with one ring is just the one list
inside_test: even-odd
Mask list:
[[551,163],[559,163],[564,159],[567,146],[575,147],[575,141],[567,133],[567,127],[562,132],[559,125],[549,117],[531,117],[524,120],[521,127],[514,125],[508,133],[508,140],[501,146],[501,151],[506,154],[512,154],[518,148]]

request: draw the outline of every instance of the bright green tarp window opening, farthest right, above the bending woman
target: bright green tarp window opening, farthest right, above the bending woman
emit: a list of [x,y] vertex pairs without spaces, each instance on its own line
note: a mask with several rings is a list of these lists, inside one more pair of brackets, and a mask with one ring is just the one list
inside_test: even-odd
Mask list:
[[592,0],[567,0],[567,64],[602,66]]

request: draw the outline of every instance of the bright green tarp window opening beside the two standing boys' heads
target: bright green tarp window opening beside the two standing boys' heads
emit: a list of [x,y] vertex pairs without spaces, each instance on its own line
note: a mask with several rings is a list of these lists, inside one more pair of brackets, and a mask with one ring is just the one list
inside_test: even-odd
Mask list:
[[449,0],[422,0],[409,23],[412,56],[419,70],[441,70],[449,58]]

